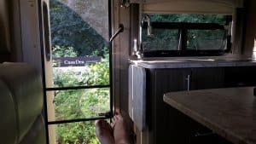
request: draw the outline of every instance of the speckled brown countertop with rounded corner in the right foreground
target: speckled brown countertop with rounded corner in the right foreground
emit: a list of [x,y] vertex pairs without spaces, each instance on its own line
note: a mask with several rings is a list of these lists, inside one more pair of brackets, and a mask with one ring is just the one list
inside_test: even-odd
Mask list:
[[256,144],[253,87],[171,92],[164,101],[235,144]]

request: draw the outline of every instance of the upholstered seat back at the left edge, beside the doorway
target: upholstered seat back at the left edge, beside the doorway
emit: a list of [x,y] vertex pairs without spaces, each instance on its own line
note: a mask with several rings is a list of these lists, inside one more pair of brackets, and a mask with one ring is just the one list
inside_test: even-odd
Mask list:
[[[1,106],[8,111],[15,110],[15,114],[5,118],[4,121],[12,121],[16,127],[15,141],[9,137],[5,144],[45,144],[44,119],[41,116],[43,108],[43,84],[37,70],[25,63],[0,64],[0,79],[2,98],[9,101],[9,106]],[[4,87],[6,85],[6,89]],[[1,99],[1,100],[2,100]],[[12,103],[11,103],[12,102]],[[11,107],[12,106],[12,107]],[[1,121],[2,122],[2,121]],[[8,129],[8,128],[7,128]],[[13,139],[13,138],[11,138]]]

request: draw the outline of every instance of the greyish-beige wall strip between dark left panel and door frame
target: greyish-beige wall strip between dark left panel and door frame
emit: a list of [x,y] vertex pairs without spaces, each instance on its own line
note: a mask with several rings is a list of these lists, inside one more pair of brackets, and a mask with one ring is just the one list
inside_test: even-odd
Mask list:
[[42,72],[37,0],[20,0],[20,24],[23,61]]

